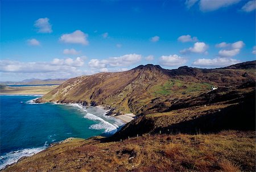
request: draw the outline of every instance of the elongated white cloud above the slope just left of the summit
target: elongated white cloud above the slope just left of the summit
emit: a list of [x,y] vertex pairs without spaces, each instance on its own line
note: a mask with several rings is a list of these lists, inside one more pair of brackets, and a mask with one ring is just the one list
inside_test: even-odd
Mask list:
[[119,57],[109,57],[108,59],[98,60],[92,59],[89,61],[90,68],[114,68],[118,66],[130,66],[141,61],[140,54],[125,54]]

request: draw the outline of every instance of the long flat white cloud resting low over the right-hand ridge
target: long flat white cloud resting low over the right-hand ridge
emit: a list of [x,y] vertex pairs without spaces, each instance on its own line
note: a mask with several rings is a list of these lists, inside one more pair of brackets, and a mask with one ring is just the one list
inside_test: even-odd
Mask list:
[[203,67],[203,68],[220,68],[225,66],[230,66],[238,64],[239,60],[232,58],[200,58],[193,62],[193,65]]

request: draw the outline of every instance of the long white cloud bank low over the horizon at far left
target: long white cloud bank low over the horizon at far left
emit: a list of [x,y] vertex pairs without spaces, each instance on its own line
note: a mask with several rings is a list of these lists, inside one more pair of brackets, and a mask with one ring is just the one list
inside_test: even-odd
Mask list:
[[0,60],[0,72],[5,73],[47,73],[47,72],[77,72],[84,64],[81,57],[75,60],[72,58],[54,58],[51,62],[20,62]]

